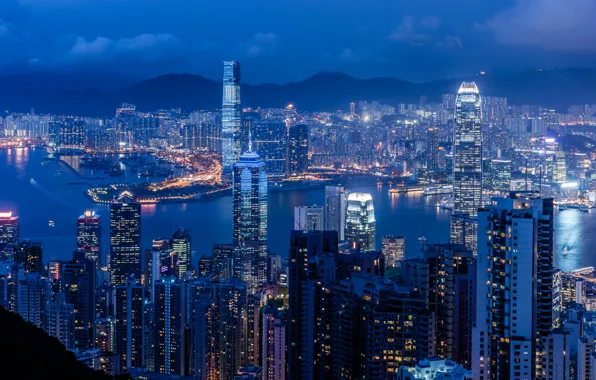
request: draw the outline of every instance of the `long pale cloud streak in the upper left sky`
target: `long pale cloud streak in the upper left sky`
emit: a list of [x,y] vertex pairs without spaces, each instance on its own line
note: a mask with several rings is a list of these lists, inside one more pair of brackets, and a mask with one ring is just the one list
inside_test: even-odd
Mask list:
[[175,53],[181,45],[180,40],[171,34],[141,34],[117,40],[106,37],[86,40],[77,37],[68,55],[80,60],[111,61],[133,57],[140,61],[154,61]]

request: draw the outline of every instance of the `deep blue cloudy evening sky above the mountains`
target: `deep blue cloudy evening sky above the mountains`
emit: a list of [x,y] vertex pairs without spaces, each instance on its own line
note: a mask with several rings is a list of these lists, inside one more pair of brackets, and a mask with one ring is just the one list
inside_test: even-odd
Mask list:
[[595,0],[0,0],[0,69],[426,81],[592,66],[595,19]]

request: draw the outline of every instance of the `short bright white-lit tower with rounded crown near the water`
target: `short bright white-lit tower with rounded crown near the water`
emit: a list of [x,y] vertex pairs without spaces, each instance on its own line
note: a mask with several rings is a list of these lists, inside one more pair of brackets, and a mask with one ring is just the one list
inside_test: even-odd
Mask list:
[[369,193],[350,193],[346,211],[346,240],[362,252],[376,249],[375,207]]

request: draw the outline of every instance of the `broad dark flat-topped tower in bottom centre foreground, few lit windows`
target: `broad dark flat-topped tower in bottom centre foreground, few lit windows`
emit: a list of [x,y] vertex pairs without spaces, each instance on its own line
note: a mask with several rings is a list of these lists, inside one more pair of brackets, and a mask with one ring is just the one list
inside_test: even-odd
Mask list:
[[[288,310],[288,377],[290,379],[312,379],[315,373],[325,373],[325,362],[329,353],[320,350],[331,339],[327,324],[332,308],[326,297],[325,286],[335,280],[335,262],[329,256],[338,254],[336,231],[292,231],[290,235],[289,257],[289,310]],[[311,265],[312,260],[324,257],[328,260],[331,278],[319,278]],[[321,271],[322,272],[322,271]],[[325,274],[325,273],[324,273]],[[315,315],[315,310],[323,313]],[[315,346],[313,342],[321,336]],[[330,344],[330,343],[328,343]],[[316,360],[316,365],[315,365]],[[331,369],[327,370],[329,373]]]

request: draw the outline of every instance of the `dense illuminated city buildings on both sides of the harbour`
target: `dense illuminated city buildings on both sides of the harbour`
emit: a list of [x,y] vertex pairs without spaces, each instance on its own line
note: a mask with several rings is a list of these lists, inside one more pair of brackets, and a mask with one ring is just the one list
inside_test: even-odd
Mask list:
[[[558,269],[572,248],[556,252],[554,225],[594,212],[596,105],[512,105],[464,82],[416,104],[242,108],[240,78],[224,62],[218,110],[7,113],[3,151],[43,150],[98,207],[72,221],[67,260],[1,210],[0,306],[109,376],[594,377],[594,268]],[[406,241],[396,223],[379,246],[373,194],[350,190],[363,184],[433,197],[449,241]],[[324,204],[296,206],[289,252],[271,251],[269,195],[310,189]],[[211,252],[192,225],[143,245],[143,205],[230,196]]]

